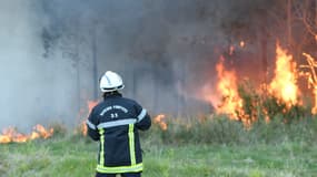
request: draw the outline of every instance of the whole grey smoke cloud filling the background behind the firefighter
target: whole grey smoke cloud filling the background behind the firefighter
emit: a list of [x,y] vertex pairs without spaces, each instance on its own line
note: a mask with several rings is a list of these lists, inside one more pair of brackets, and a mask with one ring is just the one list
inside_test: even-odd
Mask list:
[[[258,6],[265,8],[264,2],[0,2],[4,27],[0,31],[0,128],[48,122],[76,124],[86,102],[95,98],[98,83],[93,72],[101,75],[107,70],[120,73],[123,94],[152,114],[209,113],[211,106],[199,100],[197,92],[215,84],[219,54],[240,38],[226,31],[232,24],[230,19],[248,23],[249,12]],[[251,50],[246,55],[252,55]]]

